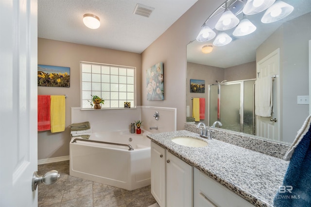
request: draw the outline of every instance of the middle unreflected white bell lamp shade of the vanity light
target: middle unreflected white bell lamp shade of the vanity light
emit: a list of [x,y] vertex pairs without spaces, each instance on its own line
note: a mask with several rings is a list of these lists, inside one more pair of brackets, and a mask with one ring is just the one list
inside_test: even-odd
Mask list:
[[228,8],[225,9],[224,14],[217,21],[215,28],[219,31],[230,30],[239,24],[240,20]]

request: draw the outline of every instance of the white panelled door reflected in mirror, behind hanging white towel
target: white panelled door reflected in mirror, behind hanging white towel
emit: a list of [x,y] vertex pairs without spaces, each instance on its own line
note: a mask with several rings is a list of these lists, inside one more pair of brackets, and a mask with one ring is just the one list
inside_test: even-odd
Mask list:
[[[280,138],[280,49],[276,49],[257,63],[257,80],[276,76],[273,80],[273,107],[271,117],[257,116],[256,135],[273,140]],[[256,93],[256,92],[255,92]]]

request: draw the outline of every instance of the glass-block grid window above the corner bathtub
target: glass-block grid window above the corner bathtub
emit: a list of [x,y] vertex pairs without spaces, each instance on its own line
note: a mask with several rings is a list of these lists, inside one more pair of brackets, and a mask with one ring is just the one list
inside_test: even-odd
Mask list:
[[136,107],[135,72],[135,67],[80,62],[81,108],[92,108],[95,95],[104,99],[102,108],[124,108],[124,102]]

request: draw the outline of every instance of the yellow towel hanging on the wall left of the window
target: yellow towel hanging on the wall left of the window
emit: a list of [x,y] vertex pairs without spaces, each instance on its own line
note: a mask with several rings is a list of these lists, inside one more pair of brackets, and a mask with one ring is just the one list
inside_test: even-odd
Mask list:
[[65,96],[51,96],[51,132],[65,131]]

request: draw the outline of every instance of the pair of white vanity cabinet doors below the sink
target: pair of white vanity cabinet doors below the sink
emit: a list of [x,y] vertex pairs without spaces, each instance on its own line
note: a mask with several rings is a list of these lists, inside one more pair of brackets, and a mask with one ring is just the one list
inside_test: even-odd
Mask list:
[[192,207],[193,168],[151,142],[151,193],[160,207]]

